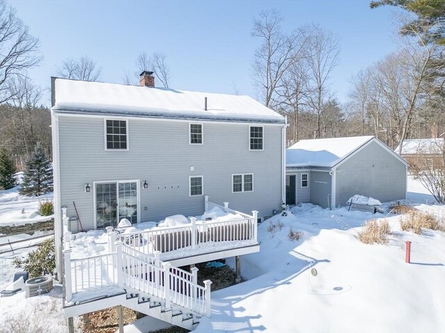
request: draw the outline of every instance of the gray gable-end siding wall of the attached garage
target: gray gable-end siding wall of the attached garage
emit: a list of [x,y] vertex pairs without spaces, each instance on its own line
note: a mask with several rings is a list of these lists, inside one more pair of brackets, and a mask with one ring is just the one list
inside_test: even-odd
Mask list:
[[354,194],[380,201],[405,198],[405,164],[375,142],[339,165],[336,177],[337,205],[346,205]]

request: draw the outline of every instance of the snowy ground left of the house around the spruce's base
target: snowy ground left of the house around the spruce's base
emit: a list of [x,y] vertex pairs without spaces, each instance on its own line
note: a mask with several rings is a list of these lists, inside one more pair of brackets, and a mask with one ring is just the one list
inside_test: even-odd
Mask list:
[[[17,180],[21,182],[22,172],[17,173]],[[48,221],[54,217],[38,214],[39,200],[52,200],[52,193],[38,197],[21,196],[19,188],[20,185],[17,185],[0,191],[0,226]]]

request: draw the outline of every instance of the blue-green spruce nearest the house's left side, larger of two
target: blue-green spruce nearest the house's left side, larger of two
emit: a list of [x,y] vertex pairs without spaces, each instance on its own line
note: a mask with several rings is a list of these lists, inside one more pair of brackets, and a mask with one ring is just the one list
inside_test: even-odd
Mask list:
[[53,191],[53,168],[40,144],[37,144],[26,162],[19,193],[24,196],[41,196]]

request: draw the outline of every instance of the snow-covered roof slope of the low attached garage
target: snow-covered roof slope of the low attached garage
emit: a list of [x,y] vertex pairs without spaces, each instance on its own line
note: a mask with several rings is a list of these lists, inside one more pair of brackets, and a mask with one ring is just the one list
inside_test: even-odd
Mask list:
[[286,149],[286,167],[334,167],[372,139],[373,136],[300,140]]

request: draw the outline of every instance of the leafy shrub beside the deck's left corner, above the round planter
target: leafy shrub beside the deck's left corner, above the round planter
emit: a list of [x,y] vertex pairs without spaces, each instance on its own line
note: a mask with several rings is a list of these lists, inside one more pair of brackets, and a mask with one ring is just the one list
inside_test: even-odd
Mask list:
[[56,254],[53,239],[47,239],[36,250],[29,253],[27,258],[15,258],[16,268],[22,268],[29,273],[30,278],[40,275],[52,275],[56,268]]

